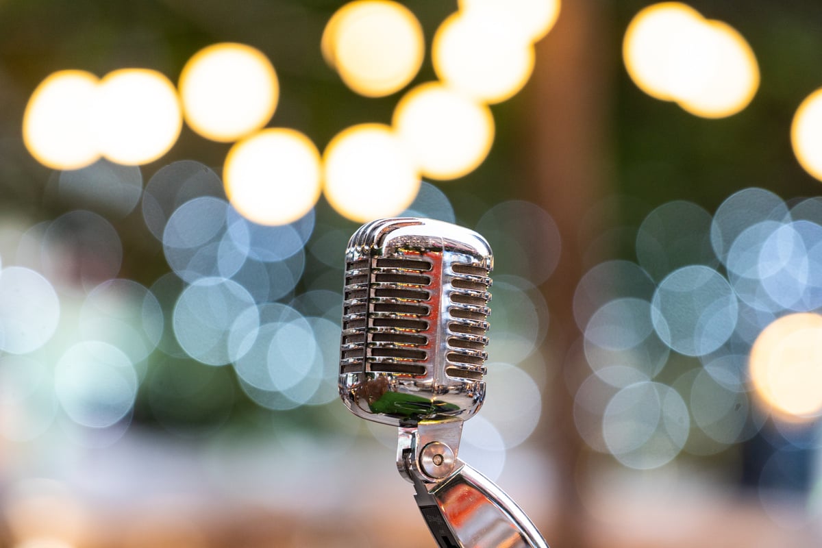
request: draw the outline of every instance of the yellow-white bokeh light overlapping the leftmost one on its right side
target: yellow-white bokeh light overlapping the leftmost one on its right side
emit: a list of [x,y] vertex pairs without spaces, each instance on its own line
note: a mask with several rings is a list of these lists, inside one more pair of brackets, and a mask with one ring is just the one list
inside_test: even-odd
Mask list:
[[152,162],[168,152],[180,135],[177,90],[158,71],[109,72],[97,85],[91,122],[105,158],[126,165]]

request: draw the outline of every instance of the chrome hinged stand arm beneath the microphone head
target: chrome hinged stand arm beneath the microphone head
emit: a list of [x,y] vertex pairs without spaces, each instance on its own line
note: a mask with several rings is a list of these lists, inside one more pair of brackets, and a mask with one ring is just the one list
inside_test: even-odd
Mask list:
[[548,548],[527,515],[493,481],[459,460],[461,419],[400,426],[399,474],[440,548]]

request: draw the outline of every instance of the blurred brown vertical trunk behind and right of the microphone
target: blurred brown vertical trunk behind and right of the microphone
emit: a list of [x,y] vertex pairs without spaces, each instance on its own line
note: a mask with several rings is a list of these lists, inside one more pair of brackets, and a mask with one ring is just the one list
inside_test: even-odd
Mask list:
[[[548,385],[543,439],[556,458],[558,536],[560,548],[584,548],[586,512],[578,485],[583,442],[574,424],[575,380],[587,367],[579,352],[569,352],[580,337],[573,314],[577,283],[591,265],[589,247],[595,231],[582,226],[585,215],[608,192],[609,109],[612,74],[619,57],[609,35],[608,2],[562,3],[556,26],[537,44],[537,66],[529,86],[529,198],[552,215],[562,251],[552,278],[543,285],[551,311],[545,355],[554,368]],[[591,220],[591,219],[588,219]],[[594,258],[595,259],[595,258]],[[582,377],[584,378],[584,376]],[[578,382],[578,381],[577,381]]]

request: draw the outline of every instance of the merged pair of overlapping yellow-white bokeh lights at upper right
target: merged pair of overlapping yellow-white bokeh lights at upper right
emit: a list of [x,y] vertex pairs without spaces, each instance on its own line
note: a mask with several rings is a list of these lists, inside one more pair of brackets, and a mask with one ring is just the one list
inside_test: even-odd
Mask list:
[[628,25],[622,55],[641,90],[700,117],[738,113],[759,88],[755,55],[737,30],[680,2],[640,11]]

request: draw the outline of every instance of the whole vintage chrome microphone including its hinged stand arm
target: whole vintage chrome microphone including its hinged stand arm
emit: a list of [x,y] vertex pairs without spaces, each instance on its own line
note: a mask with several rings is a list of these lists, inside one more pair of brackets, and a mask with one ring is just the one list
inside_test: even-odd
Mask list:
[[528,516],[459,460],[485,398],[491,248],[432,219],[379,219],[345,253],[339,394],[399,426],[397,467],[441,548],[548,548]]

